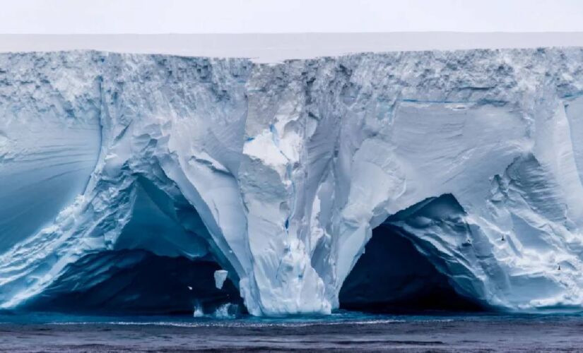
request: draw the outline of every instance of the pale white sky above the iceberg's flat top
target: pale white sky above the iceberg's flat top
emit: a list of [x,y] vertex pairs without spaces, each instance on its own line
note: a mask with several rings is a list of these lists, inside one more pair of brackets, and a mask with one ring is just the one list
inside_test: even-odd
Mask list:
[[583,31],[583,0],[4,0],[0,33]]

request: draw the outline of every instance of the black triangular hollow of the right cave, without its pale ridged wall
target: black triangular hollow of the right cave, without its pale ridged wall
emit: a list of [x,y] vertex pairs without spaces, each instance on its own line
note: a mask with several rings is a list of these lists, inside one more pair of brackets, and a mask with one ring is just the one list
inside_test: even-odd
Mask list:
[[457,294],[404,237],[399,227],[380,225],[339,294],[340,309],[372,313],[475,312],[483,307]]

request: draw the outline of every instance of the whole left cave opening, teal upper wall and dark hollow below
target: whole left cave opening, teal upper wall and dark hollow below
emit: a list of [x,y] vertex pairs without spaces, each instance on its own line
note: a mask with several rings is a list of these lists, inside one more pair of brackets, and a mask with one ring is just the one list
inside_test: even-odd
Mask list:
[[[170,182],[169,182],[170,184]],[[69,264],[47,289],[22,308],[111,315],[213,313],[235,304],[245,311],[233,281],[211,251],[211,237],[197,210],[182,196],[144,177],[134,184],[129,222],[110,250]],[[221,289],[215,271],[228,270]],[[231,313],[232,310],[229,310]]]

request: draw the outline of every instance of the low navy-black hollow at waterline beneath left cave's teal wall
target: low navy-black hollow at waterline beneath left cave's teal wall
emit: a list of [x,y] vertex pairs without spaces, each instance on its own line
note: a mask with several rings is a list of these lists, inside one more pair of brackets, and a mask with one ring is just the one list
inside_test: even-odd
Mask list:
[[113,315],[192,315],[195,306],[213,313],[224,304],[243,309],[230,279],[216,288],[214,272],[220,269],[210,260],[143,250],[93,253],[69,265],[25,309]]

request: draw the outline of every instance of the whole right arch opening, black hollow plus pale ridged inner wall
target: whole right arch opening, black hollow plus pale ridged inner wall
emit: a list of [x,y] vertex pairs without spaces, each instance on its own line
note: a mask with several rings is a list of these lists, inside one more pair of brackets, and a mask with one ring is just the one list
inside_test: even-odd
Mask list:
[[[473,272],[479,239],[451,194],[391,215],[372,232],[339,294],[341,307],[370,311],[489,308]],[[476,242],[476,244],[474,244]],[[474,259],[474,260],[472,260]]]

